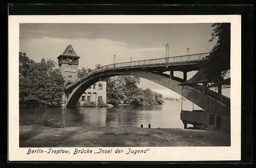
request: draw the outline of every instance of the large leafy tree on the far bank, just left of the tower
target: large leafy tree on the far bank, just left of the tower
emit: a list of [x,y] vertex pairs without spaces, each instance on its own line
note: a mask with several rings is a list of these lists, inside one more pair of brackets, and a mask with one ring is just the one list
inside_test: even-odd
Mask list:
[[[62,103],[64,79],[54,61],[41,59],[31,64],[19,80],[19,101],[27,107],[59,106]],[[23,68],[24,69],[24,68]]]

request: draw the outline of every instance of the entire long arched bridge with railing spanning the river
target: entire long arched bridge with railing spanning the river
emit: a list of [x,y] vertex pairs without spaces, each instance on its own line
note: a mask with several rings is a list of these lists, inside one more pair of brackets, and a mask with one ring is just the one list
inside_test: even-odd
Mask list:
[[[203,94],[201,87],[185,87],[187,73],[199,70],[209,53],[165,57],[140,61],[114,63],[96,68],[65,87],[65,107],[74,107],[82,93],[94,83],[113,76],[132,75],[156,82],[185,97],[204,111],[230,115],[230,99],[212,90]],[[170,75],[164,72],[170,71]],[[183,78],[174,76],[174,71],[182,71]]]

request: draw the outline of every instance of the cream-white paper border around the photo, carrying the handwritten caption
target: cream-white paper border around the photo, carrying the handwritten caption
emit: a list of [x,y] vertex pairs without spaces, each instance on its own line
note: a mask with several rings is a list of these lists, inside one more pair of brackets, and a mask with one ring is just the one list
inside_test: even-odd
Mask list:
[[[27,155],[19,148],[18,52],[19,23],[214,23],[231,22],[231,146],[230,147],[118,147],[127,151],[150,149],[143,154]],[[10,15],[8,52],[8,157],[9,161],[214,161],[241,159],[241,16],[240,15]],[[30,148],[38,149],[38,148]],[[49,148],[39,148],[49,150]],[[77,148],[91,149],[99,148]]]

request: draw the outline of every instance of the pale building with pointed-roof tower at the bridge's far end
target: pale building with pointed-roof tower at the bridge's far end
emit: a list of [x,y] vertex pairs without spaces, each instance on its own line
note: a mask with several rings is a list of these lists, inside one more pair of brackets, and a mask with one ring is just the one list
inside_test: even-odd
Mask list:
[[[78,79],[79,58],[80,57],[76,55],[71,44],[57,57],[59,72],[64,77],[65,86]],[[66,101],[65,96],[63,97],[63,100]],[[86,101],[96,103],[102,101],[103,103],[106,103],[106,82],[99,81],[84,91],[78,102],[82,105]]]

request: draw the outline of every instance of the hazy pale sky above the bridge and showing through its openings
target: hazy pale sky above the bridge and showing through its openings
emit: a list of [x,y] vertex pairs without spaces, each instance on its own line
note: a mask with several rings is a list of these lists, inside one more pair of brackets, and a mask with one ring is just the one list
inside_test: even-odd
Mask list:
[[[216,41],[211,38],[212,23],[20,23],[19,51],[39,62],[57,57],[71,44],[80,56],[78,68],[95,68],[96,64],[116,63],[165,57],[165,45],[169,45],[169,57],[209,52]],[[187,78],[196,71],[188,73]],[[181,77],[179,72],[174,74]],[[176,92],[152,81],[141,79],[141,88],[151,88],[164,97],[180,98]],[[226,90],[226,89],[225,89]],[[223,94],[229,97],[229,91]]]

